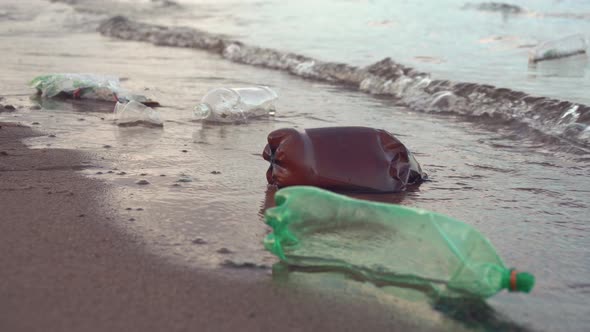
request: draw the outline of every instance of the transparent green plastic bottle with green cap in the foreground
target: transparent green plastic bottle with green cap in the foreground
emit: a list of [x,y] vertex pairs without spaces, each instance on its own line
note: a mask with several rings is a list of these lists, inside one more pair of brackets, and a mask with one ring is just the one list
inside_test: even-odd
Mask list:
[[343,270],[377,284],[437,295],[529,292],[535,278],[507,268],[473,227],[422,209],[352,199],[315,187],[275,194],[264,246],[286,264]]

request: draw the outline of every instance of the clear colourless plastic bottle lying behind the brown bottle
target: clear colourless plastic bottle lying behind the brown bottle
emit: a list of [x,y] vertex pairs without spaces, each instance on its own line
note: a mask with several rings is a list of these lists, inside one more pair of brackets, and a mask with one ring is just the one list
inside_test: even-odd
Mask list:
[[266,86],[218,88],[209,91],[195,106],[197,119],[209,122],[245,122],[274,115],[277,94]]

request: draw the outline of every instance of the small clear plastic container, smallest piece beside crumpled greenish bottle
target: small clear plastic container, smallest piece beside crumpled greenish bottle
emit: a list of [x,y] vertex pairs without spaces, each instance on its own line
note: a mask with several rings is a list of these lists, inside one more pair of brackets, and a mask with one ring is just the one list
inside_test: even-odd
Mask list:
[[115,121],[119,126],[164,126],[160,112],[136,101],[130,101],[128,103],[118,102],[115,105],[114,112]]

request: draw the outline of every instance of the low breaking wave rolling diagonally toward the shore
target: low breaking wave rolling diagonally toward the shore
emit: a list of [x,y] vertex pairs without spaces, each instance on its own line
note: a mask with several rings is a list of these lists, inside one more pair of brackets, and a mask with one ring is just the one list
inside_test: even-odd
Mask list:
[[283,70],[374,95],[391,96],[416,111],[525,124],[536,132],[567,141],[582,150],[587,151],[590,146],[590,107],[586,105],[485,84],[435,80],[427,73],[390,58],[356,67],[246,45],[193,28],[158,26],[123,16],[104,21],[98,31],[125,40],[208,50],[234,62]]

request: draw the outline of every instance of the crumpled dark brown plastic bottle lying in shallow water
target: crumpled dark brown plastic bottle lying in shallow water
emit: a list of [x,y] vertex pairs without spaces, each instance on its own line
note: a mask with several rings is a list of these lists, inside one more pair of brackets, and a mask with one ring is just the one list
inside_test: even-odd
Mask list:
[[275,130],[263,158],[270,162],[268,183],[278,187],[399,192],[426,176],[397,138],[366,127]]

